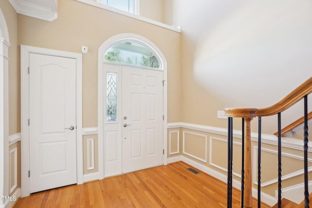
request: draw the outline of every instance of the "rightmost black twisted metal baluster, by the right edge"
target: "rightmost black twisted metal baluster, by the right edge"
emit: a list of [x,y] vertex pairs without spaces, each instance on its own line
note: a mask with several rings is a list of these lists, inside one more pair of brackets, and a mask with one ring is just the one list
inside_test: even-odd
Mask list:
[[308,95],[304,96],[304,203],[309,208],[309,187],[308,187]]

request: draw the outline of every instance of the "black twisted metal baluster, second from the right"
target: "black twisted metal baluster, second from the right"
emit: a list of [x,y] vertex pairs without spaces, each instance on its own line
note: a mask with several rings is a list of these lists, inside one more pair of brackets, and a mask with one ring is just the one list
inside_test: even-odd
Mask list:
[[282,206],[282,142],[281,142],[281,113],[277,114],[278,132],[278,208]]

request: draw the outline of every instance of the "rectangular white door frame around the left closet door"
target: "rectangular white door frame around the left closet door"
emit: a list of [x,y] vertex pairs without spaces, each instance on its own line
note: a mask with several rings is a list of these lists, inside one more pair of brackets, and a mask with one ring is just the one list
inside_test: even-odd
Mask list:
[[20,45],[20,130],[21,130],[21,197],[30,194],[29,170],[29,54],[76,59],[76,125],[77,125],[77,183],[83,183],[82,155],[82,54]]

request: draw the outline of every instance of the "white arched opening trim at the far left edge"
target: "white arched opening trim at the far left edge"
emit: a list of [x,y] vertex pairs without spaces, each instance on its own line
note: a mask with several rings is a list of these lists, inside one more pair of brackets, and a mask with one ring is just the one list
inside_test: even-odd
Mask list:
[[[0,8],[0,196],[9,196],[9,46],[9,31]],[[7,205],[0,200],[0,208]]]

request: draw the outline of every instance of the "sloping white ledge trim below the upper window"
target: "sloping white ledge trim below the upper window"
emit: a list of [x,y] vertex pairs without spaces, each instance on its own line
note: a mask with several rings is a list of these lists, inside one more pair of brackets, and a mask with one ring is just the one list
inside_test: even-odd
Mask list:
[[[79,1],[79,2],[82,2],[82,3],[85,3],[85,4],[89,4],[91,6],[95,6],[95,7],[101,8],[101,9],[105,9],[105,10],[108,10],[108,11],[120,14],[120,15],[124,15],[124,16],[130,17],[130,18],[133,18],[133,19],[138,19],[138,20],[150,23],[150,24],[154,24],[154,25],[159,26],[159,27],[163,27],[163,28],[166,28],[166,29],[178,32],[178,33],[181,33],[181,29],[180,28],[176,28],[176,27],[173,27],[173,26],[170,26],[170,25],[158,22],[158,21],[153,20],[153,19],[149,19],[149,18],[145,18],[145,17],[142,17],[142,16],[138,16],[139,13],[140,13],[139,9],[138,9],[138,11],[136,11],[137,15],[135,15],[135,14],[132,14],[132,13],[129,13],[129,12],[122,11],[120,9],[116,9],[114,7],[107,6],[105,4],[99,3],[99,2],[94,1],[94,0],[76,0],[76,1]],[[137,5],[136,5],[136,8],[139,8],[139,3],[138,2],[137,2]]]

